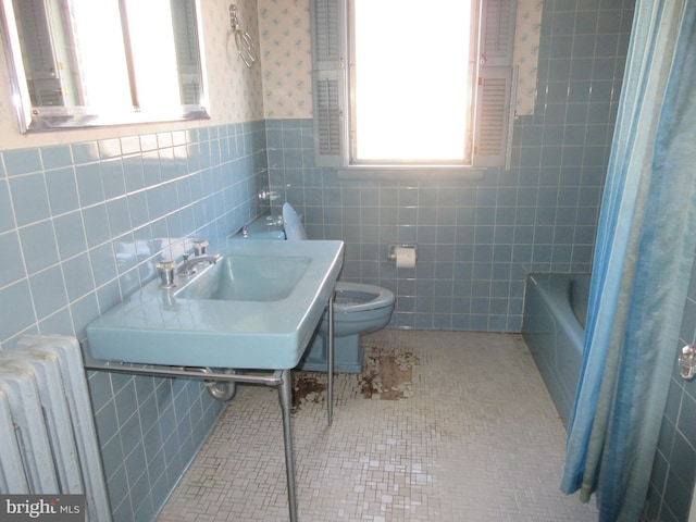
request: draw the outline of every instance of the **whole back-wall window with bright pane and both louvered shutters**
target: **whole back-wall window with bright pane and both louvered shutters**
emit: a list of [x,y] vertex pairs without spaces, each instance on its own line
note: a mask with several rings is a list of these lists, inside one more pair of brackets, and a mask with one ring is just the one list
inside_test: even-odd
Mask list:
[[319,164],[504,165],[514,0],[313,0]]

